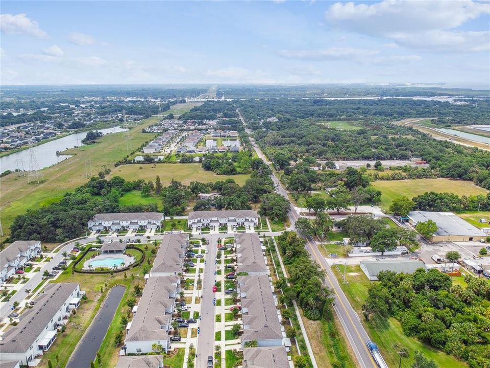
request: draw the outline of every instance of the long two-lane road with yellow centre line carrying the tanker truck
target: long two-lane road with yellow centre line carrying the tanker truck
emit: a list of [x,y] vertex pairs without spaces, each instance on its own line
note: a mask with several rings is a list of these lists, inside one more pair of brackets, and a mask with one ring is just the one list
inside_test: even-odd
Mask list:
[[[240,114],[240,118],[241,117]],[[270,162],[268,162],[267,158],[264,156],[260,148],[257,146],[255,143],[255,140],[251,138],[250,140],[252,142],[252,145],[254,146],[255,152],[257,152],[257,155],[269,166],[271,165]],[[276,177],[274,172],[271,175],[272,180],[274,181],[276,185],[276,191],[278,194],[282,195],[283,197],[288,198],[286,191],[281,185],[281,182],[279,179]],[[291,203],[291,208],[288,213],[288,218],[289,222],[291,223],[291,230],[295,229],[295,223],[296,221],[300,218],[298,212],[295,210],[294,206]],[[362,323],[359,319],[359,316],[357,313],[354,311],[352,306],[350,305],[349,301],[347,300],[347,297],[340,288],[340,285],[337,282],[337,279],[335,278],[335,275],[333,274],[333,271],[331,268],[328,266],[327,262],[323,258],[322,254],[316,247],[315,243],[313,240],[309,237],[304,237],[306,239],[306,249],[308,250],[311,258],[316,261],[320,266],[325,269],[326,271],[326,278],[325,278],[325,284],[328,288],[332,289],[334,292],[334,306],[333,309],[337,313],[337,316],[340,320],[340,323],[342,327],[344,328],[344,331],[346,333],[347,339],[349,340],[349,343],[351,345],[352,350],[354,351],[354,354],[357,358],[357,361],[359,363],[359,366],[361,368],[376,368],[376,362],[373,360],[370,352],[367,350],[365,343],[367,340],[369,340],[369,336],[367,335],[366,330],[362,326]]]

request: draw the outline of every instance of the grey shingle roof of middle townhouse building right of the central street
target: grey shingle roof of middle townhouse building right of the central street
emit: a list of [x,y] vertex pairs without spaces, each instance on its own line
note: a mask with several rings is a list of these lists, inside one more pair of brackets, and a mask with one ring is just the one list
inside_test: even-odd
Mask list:
[[239,276],[238,286],[242,295],[242,341],[282,339],[281,325],[268,276]]

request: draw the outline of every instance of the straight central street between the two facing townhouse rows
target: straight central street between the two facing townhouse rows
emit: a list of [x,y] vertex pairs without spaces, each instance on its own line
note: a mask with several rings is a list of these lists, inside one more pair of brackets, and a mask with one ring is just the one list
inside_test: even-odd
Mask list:
[[216,242],[219,234],[203,235],[209,240],[207,248],[209,252],[206,254],[206,265],[203,273],[203,298],[201,300],[201,323],[200,334],[197,346],[197,358],[195,359],[196,368],[206,368],[208,364],[208,356],[214,357],[214,304],[213,304],[213,286],[216,270]]

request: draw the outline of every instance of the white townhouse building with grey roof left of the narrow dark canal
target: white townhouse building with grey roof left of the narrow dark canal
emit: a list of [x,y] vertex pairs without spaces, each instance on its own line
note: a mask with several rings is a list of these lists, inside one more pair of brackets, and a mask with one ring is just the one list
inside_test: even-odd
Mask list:
[[56,339],[57,329],[68,321],[71,309],[78,308],[80,285],[48,284],[32,309],[21,315],[17,326],[0,341],[0,361],[17,360],[27,365],[47,351]]

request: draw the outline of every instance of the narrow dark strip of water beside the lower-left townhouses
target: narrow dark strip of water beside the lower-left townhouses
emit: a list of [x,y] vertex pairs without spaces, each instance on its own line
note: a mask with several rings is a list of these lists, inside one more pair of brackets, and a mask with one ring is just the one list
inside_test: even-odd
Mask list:
[[78,343],[74,353],[71,354],[66,368],[90,368],[90,362],[95,360],[97,351],[101,348],[107,329],[125,291],[125,286],[112,287],[95,319],[82,336],[82,340]]

